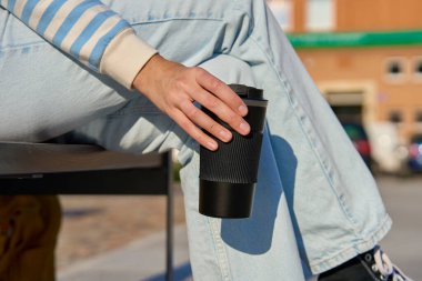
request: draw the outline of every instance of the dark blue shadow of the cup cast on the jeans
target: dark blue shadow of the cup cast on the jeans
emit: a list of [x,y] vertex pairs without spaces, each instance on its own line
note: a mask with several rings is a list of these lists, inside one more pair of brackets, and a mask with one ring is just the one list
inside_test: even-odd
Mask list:
[[[268,133],[264,133],[251,217],[237,220],[223,219],[221,223],[223,241],[228,245],[250,254],[261,254],[271,249],[284,184],[289,184],[290,188],[294,187],[298,160],[293,150],[284,139],[277,136],[270,138]],[[274,151],[275,147],[278,147],[278,151]],[[274,159],[274,155],[280,155],[280,153],[289,165],[288,174],[281,172],[282,170]]]

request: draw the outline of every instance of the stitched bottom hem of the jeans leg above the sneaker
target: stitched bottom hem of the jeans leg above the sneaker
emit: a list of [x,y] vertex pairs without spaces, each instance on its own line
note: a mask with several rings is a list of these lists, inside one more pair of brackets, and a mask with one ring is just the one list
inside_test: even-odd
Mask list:
[[376,228],[369,238],[354,242],[353,245],[336,252],[330,258],[320,260],[316,259],[316,262],[310,263],[312,273],[318,274],[324,272],[354,258],[356,254],[371,250],[381,240],[381,238],[386,234],[390,228],[391,218],[386,214],[380,227]]

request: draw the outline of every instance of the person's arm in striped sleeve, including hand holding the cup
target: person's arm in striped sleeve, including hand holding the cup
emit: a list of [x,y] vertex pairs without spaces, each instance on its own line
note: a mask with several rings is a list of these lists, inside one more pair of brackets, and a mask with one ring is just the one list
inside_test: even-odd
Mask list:
[[227,84],[203,69],[188,68],[155,54],[125,20],[102,2],[0,0],[0,3],[76,60],[145,94],[202,145],[218,148],[215,140],[200,128],[222,141],[230,141],[232,134],[194,102],[239,133],[249,133],[250,127],[242,118],[248,109]]

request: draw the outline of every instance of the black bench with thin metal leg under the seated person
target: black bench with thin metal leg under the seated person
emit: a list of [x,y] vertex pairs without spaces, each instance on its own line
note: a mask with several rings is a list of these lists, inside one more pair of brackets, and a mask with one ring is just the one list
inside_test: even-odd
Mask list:
[[0,194],[167,195],[165,280],[173,280],[171,152],[134,155],[88,144],[0,142]]

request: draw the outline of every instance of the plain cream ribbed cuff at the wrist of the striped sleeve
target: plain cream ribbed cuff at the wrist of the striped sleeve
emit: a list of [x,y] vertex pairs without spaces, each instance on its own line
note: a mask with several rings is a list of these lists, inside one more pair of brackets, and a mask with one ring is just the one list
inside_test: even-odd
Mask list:
[[123,30],[105,48],[100,62],[100,72],[132,89],[135,76],[157,52],[138,38],[133,29]]

